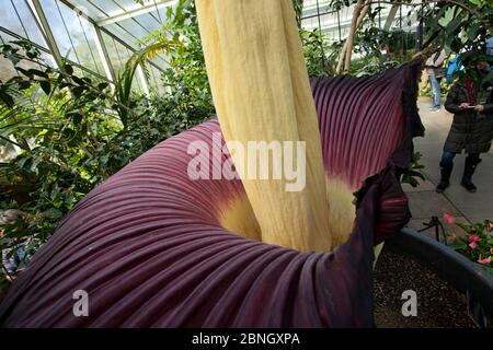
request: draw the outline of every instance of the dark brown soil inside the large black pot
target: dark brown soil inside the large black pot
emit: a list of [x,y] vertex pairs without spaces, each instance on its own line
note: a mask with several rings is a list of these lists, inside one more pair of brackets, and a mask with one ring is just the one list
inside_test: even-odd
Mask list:
[[[471,328],[467,300],[433,271],[387,247],[380,254],[375,278],[375,323],[379,328]],[[404,317],[405,290],[416,292],[417,315]]]

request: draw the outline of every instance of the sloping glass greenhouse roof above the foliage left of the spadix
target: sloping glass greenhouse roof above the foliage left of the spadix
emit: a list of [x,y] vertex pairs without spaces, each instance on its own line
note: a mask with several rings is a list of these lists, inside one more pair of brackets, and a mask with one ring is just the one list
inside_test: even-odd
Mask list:
[[[141,39],[159,30],[167,20],[167,9],[174,7],[177,0],[145,0],[144,4],[135,0],[39,0],[48,31],[60,55],[69,61],[80,65],[85,72],[99,77],[110,75],[105,69],[104,55],[107,51],[108,65],[118,72],[126,60],[140,46]],[[3,40],[25,37],[48,49],[47,43],[30,9],[28,0],[3,0],[0,7],[0,35]],[[35,9],[33,9],[35,11]],[[42,25],[42,24],[39,24]],[[98,39],[101,28],[101,38]],[[49,35],[47,35],[49,38]],[[105,47],[99,45],[101,43]],[[46,54],[50,61],[54,58]],[[168,67],[163,52],[152,58],[148,65],[149,85],[154,91],[163,90],[161,71]],[[140,79],[136,79],[137,91],[145,90]]]

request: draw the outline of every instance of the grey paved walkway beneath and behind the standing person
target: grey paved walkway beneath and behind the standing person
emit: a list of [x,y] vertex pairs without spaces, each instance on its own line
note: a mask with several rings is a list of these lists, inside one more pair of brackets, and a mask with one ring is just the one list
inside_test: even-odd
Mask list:
[[[424,138],[415,138],[416,151],[423,156],[420,161],[425,165],[423,173],[426,182],[416,188],[404,185],[411,205],[412,220],[409,226],[415,230],[423,229],[423,222],[428,222],[433,215],[442,221],[444,213],[452,214],[457,222],[482,222],[484,219],[493,220],[493,148],[483,153],[483,162],[478,165],[473,183],[478,186],[475,194],[468,192],[460,186],[466,156],[457,155],[450,178],[450,187],[444,194],[435,192],[435,186],[440,178],[439,160],[442,150],[452,121],[452,115],[444,108],[440,112],[428,112],[429,98],[421,97],[419,101],[420,115],[426,128]],[[447,225],[449,232],[460,232],[455,225]],[[428,231],[434,235],[434,231]]]

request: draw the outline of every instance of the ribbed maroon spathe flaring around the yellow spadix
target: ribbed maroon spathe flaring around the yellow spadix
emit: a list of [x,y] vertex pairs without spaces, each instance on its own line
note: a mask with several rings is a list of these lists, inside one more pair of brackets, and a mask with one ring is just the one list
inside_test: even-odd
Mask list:
[[[162,142],[90,192],[13,283],[0,324],[372,326],[372,245],[409,220],[395,171],[409,163],[412,137],[422,132],[419,63],[365,79],[312,81],[326,175],[360,189],[353,233],[335,252],[300,253],[221,228],[221,212],[244,196],[241,180],[187,175],[187,147],[211,145],[220,131],[214,119]],[[77,290],[89,294],[88,317],[72,313]]]

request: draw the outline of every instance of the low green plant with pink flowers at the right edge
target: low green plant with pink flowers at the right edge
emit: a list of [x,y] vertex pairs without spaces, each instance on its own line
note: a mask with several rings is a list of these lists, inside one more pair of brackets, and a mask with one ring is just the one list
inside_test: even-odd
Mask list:
[[456,225],[463,234],[449,234],[447,245],[472,261],[481,264],[493,275],[493,222],[484,220],[482,223]]

